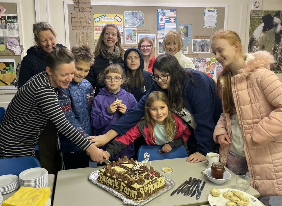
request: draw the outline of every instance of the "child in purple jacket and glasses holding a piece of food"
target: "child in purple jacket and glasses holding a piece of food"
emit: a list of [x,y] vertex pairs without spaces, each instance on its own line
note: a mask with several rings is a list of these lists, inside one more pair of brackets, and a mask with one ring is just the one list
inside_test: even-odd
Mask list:
[[[108,66],[104,73],[98,76],[99,81],[104,82],[106,87],[100,89],[94,98],[91,111],[91,126],[96,135],[108,132],[111,125],[117,122],[124,113],[136,105],[136,100],[131,93],[126,92],[120,86],[126,84],[123,69],[118,64]],[[117,101],[118,100],[118,101]],[[121,100],[121,103],[119,101]],[[106,149],[106,145],[100,147]],[[130,144],[119,154],[112,156],[111,161],[124,156],[133,157],[134,146]]]

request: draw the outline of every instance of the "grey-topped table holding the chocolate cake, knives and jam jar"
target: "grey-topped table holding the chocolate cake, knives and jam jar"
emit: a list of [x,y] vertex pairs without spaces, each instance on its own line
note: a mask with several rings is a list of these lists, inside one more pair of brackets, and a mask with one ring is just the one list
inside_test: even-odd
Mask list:
[[[148,163],[149,164],[149,163]],[[147,165],[149,166],[149,165]],[[199,163],[186,162],[186,158],[169,159],[169,160],[156,160],[151,162],[151,166],[157,169],[162,175],[171,178],[175,182],[175,187],[165,192],[164,194],[156,197],[146,204],[146,206],[170,206],[170,205],[208,205],[209,191],[215,187],[219,188],[236,188],[236,175],[229,169],[231,178],[221,185],[210,182],[207,177],[201,174],[203,169],[206,169],[205,161]],[[174,170],[172,173],[162,172],[162,167],[169,166]],[[57,182],[55,186],[55,195],[53,206],[72,206],[72,205],[122,205],[120,198],[111,196],[108,191],[93,184],[88,180],[89,174],[101,167],[87,167],[81,169],[70,169],[59,171],[57,175]],[[203,189],[200,199],[197,201],[194,197],[185,197],[181,194],[170,196],[170,193],[179,187],[182,182],[188,180],[189,177],[200,178],[206,181],[205,188]],[[251,188],[249,194],[258,197],[259,193]]]

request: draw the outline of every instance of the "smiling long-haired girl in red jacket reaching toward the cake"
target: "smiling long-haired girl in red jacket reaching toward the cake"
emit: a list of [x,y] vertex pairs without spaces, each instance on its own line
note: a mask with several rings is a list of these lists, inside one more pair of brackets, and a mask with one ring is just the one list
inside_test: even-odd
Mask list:
[[147,145],[163,145],[162,152],[170,152],[185,143],[191,131],[182,119],[171,112],[167,96],[155,91],[149,94],[145,103],[145,117],[121,137],[108,144],[107,158],[120,152],[129,143],[142,137]]

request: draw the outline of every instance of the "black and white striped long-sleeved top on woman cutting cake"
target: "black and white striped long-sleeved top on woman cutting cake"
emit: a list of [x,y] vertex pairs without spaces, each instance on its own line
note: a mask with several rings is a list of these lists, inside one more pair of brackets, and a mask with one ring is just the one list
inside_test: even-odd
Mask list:
[[86,150],[88,141],[69,122],[46,72],[39,73],[19,88],[0,123],[0,158],[35,156],[34,148],[50,119],[57,130]]

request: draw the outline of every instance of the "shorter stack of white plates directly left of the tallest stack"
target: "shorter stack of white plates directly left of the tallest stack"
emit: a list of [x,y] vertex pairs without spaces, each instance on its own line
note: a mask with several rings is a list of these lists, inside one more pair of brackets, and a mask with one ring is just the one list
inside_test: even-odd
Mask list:
[[[16,190],[19,187],[19,178],[17,175],[2,175],[0,176],[0,192],[7,194]],[[2,195],[1,195],[2,196]],[[0,197],[1,200],[1,197]],[[2,199],[3,200],[3,199]]]

